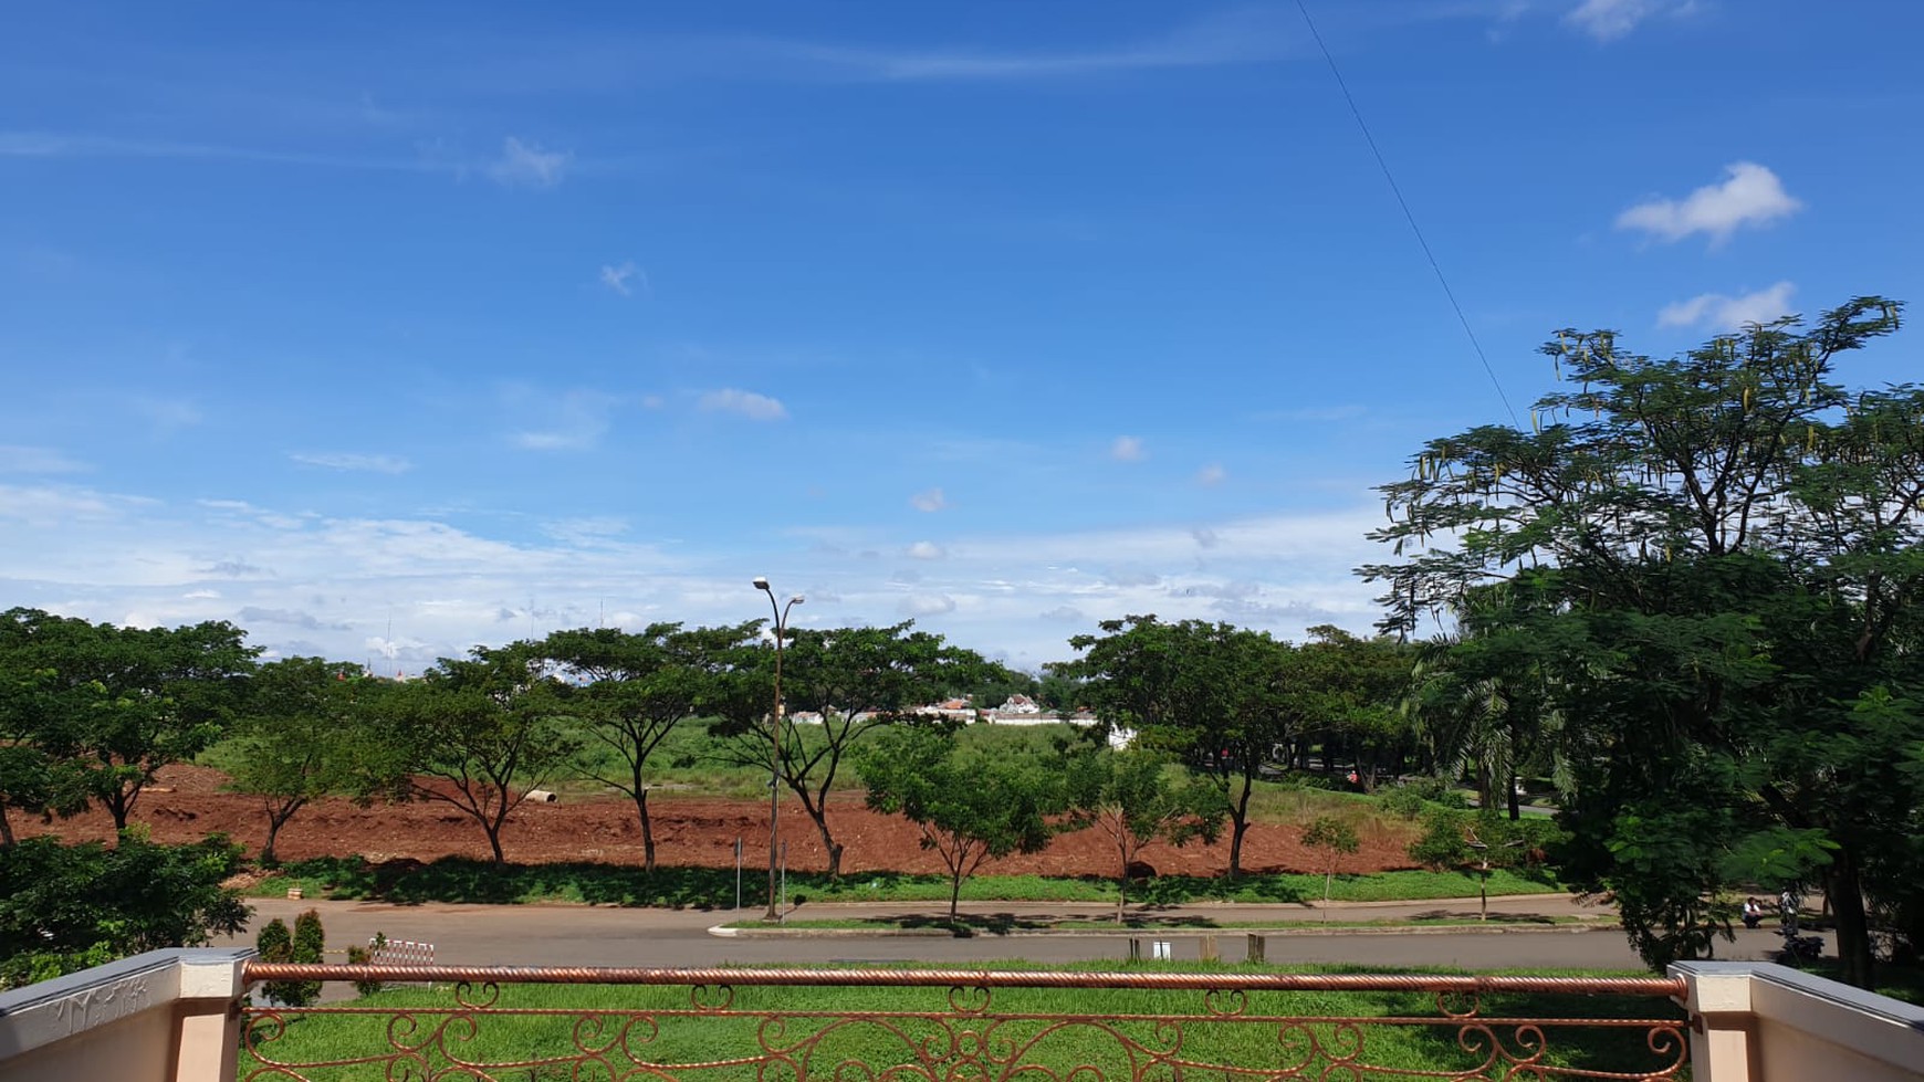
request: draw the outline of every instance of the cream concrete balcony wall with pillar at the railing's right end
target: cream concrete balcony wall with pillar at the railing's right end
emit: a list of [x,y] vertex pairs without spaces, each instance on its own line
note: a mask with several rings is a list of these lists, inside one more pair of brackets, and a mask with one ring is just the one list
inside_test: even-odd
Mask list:
[[1678,963],[1697,1082],[1916,1082],[1924,1007],[1760,963]]

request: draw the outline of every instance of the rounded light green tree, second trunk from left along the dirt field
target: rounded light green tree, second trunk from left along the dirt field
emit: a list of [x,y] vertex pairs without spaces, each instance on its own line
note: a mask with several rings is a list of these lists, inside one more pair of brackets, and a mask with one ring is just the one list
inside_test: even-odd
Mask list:
[[308,803],[366,801],[381,788],[392,750],[381,748],[366,709],[381,686],[360,665],[319,657],[269,661],[254,673],[233,726],[227,788],[262,801],[262,863],[275,863],[281,828]]

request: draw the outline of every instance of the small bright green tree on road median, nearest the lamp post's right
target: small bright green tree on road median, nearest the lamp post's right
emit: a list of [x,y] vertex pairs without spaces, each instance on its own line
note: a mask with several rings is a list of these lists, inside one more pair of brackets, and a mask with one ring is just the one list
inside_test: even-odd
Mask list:
[[962,748],[949,732],[883,732],[856,763],[868,807],[900,815],[922,830],[949,869],[949,919],[956,919],[962,880],[991,857],[1039,853],[1054,834],[1062,786],[1037,759]]

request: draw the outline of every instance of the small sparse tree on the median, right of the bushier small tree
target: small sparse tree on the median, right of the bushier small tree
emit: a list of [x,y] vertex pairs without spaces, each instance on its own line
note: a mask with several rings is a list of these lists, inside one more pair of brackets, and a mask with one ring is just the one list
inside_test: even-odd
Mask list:
[[1154,751],[1110,748],[1072,750],[1064,755],[1070,823],[1095,826],[1114,846],[1116,922],[1129,901],[1129,865],[1151,842],[1185,846],[1193,838],[1214,842],[1222,834],[1224,807],[1208,782],[1170,776],[1170,763]]

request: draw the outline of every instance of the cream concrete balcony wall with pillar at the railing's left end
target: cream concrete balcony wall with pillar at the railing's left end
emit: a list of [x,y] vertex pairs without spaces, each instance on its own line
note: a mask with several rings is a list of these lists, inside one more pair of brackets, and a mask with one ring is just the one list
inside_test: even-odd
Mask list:
[[235,1076],[250,949],[171,949],[0,992],[0,1082]]

